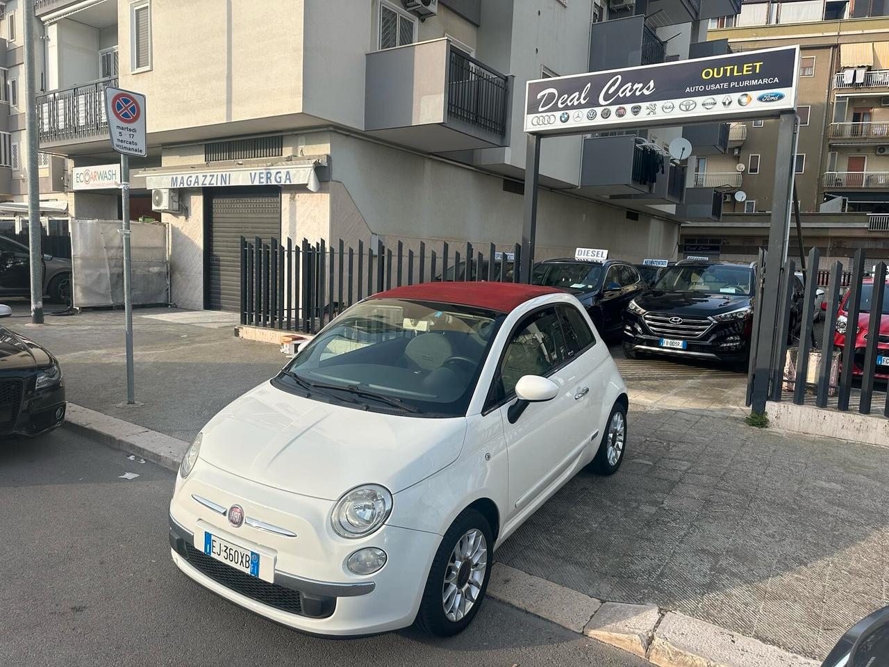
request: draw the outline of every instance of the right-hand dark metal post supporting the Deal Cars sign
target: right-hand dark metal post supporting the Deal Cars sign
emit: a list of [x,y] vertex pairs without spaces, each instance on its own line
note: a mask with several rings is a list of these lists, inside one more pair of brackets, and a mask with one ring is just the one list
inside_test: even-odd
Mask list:
[[[772,217],[769,226],[769,251],[765,258],[765,281],[763,283],[761,302],[755,308],[761,308],[759,318],[759,336],[757,349],[750,350],[756,356],[753,375],[751,404],[754,414],[765,413],[765,401],[769,396],[769,371],[773,368],[775,352],[775,336],[779,330],[778,306],[781,296],[781,270],[787,261],[787,247],[790,230],[790,198],[793,193],[795,156],[797,153],[797,114],[789,112],[781,114],[778,126],[778,146],[775,164],[775,182],[772,197]],[[780,364],[777,365],[782,367]],[[781,382],[781,378],[773,378]]]

